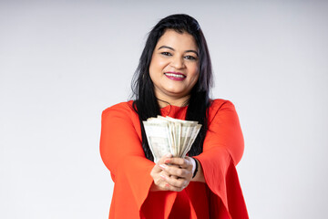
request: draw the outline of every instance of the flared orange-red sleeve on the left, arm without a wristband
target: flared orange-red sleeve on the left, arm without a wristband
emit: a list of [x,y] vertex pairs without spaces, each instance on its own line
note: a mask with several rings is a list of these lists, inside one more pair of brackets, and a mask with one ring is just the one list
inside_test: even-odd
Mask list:
[[[131,104],[103,111],[100,155],[114,181],[109,218],[144,218],[159,211],[169,215],[176,193],[149,193],[155,163],[142,150],[138,114]],[[153,204],[150,209],[149,204]]]

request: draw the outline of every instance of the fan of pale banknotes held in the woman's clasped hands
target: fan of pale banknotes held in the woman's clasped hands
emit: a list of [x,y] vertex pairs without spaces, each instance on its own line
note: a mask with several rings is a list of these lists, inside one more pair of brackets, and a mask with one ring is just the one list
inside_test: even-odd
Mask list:
[[198,121],[177,120],[158,116],[143,121],[149,148],[154,162],[171,153],[173,157],[184,158],[200,132]]

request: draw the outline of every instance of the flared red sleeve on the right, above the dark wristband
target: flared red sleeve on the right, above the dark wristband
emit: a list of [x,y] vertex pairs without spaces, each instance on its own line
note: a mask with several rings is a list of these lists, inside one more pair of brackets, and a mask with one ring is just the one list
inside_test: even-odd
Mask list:
[[[211,202],[220,204],[220,214],[227,218],[248,218],[235,165],[244,149],[238,115],[230,101],[214,100],[209,111],[209,130],[203,152],[196,156],[212,192]],[[210,209],[212,214],[218,210]],[[214,212],[214,213],[213,213]],[[225,218],[224,217],[224,218]]]

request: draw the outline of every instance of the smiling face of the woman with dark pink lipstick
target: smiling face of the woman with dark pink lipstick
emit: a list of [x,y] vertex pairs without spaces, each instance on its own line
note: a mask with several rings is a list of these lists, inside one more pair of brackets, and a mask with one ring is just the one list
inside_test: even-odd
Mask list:
[[178,99],[188,99],[200,76],[199,51],[194,37],[166,30],[154,49],[149,74],[158,99],[171,104]]

